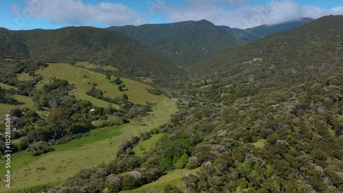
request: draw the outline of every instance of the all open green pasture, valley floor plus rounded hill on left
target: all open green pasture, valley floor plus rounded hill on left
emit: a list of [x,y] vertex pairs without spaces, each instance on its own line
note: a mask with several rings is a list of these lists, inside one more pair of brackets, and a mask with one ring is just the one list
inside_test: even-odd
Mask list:
[[[146,117],[137,117],[130,120],[129,124],[98,128],[92,130],[90,135],[86,137],[74,139],[67,144],[52,146],[55,150],[45,155],[33,157],[25,151],[14,153],[11,167],[12,190],[64,181],[82,168],[94,167],[101,163],[113,161],[118,145],[122,141],[130,140],[132,136],[138,136],[139,133],[147,132],[161,124],[165,124],[169,121],[170,115],[177,111],[174,100],[164,95],[152,95],[147,92],[147,89],[152,89],[152,87],[127,78],[121,78],[121,80],[123,80],[123,84],[126,84],[128,90],[119,91],[117,89],[118,85],[106,80],[104,74],[69,64],[49,64],[49,67],[36,71],[36,75],[38,74],[43,76],[43,83],[37,84],[36,89],[41,89],[44,84],[49,84],[53,77],[61,78],[68,80],[70,84],[75,84],[76,99],[89,100],[96,106],[107,107],[108,102],[86,95],[86,91],[91,89],[89,83],[95,82],[97,89],[102,89],[104,95],[116,98],[126,93],[129,100],[134,103],[151,102],[153,111]],[[87,78],[84,78],[84,74],[86,74]],[[29,77],[27,76],[27,74],[22,73],[19,75],[19,79],[28,80]],[[112,80],[114,78],[113,76]],[[10,88],[5,84],[0,86]],[[1,104],[1,113],[7,113],[10,109],[18,107],[32,108],[34,105],[31,98],[21,95],[14,95],[14,97],[24,104],[20,106]],[[156,144],[161,137],[163,137],[162,134],[153,135],[149,140]],[[144,150],[150,150],[153,147],[152,144],[145,141],[142,146]],[[137,149],[137,153],[142,153],[142,150]],[[0,165],[4,163],[4,160],[0,161]],[[5,174],[4,168],[0,168],[0,174],[1,176]],[[1,180],[1,183],[3,184],[3,180]],[[4,187],[4,185],[1,185],[1,187]],[[5,190],[7,189],[0,188],[0,192]]]

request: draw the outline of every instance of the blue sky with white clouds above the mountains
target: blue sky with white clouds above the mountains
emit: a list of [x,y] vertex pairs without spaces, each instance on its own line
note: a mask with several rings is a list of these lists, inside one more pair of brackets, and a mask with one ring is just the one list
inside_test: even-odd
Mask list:
[[206,19],[246,29],[343,14],[342,0],[0,0],[0,27],[109,27]]

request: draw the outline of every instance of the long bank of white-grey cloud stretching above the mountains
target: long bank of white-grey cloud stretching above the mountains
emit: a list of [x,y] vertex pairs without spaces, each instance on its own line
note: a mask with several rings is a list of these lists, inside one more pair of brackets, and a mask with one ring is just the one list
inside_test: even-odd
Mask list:
[[[24,7],[12,4],[12,14],[31,14],[36,19],[46,19],[63,25],[141,25],[160,21],[198,21],[206,19],[215,25],[237,28],[273,25],[294,21],[302,17],[318,19],[329,14],[343,14],[343,6],[331,9],[300,5],[296,1],[269,1],[254,5],[249,0],[147,0],[139,11],[123,3],[86,3],[82,0],[27,0]],[[33,10],[29,12],[29,10]]]

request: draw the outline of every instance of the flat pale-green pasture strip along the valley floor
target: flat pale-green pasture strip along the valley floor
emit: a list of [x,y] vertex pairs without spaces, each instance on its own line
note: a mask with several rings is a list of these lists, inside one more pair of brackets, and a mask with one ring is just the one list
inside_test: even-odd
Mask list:
[[[174,100],[166,97],[155,101],[153,112],[147,117],[138,117],[121,126],[110,129],[110,133],[84,137],[67,144],[54,146],[54,152],[39,157],[31,157],[27,152],[12,155],[12,188],[23,188],[65,180],[85,167],[97,166],[115,159],[118,145],[132,136],[139,135],[169,121],[176,113]],[[99,132],[99,131],[98,131]],[[93,133],[94,134],[94,133]],[[4,161],[1,160],[0,165]],[[45,168],[45,169],[42,169]],[[3,168],[0,175],[3,176]],[[1,180],[3,183],[3,180]],[[1,187],[4,187],[2,184]],[[0,188],[0,192],[7,190]]]

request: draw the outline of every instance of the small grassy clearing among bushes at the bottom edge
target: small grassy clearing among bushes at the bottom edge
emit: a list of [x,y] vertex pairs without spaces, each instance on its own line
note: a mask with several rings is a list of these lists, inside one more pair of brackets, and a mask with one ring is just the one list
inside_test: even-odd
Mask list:
[[163,192],[163,188],[165,185],[170,184],[173,186],[177,186],[180,190],[186,191],[186,187],[182,182],[182,176],[187,174],[187,173],[196,173],[199,172],[200,168],[196,168],[194,170],[187,170],[187,169],[182,169],[182,170],[172,170],[165,174],[163,177],[160,179],[143,185],[140,188],[134,189],[134,190],[127,190],[127,191],[121,191],[121,193],[136,193],[139,191],[149,191],[152,188],[154,188],[157,192]]

